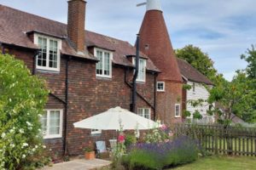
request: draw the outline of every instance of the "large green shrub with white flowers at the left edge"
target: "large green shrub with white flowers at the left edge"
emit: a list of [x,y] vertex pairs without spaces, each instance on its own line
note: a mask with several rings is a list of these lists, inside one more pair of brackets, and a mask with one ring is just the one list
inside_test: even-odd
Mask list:
[[23,62],[0,54],[0,169],[23,169],[42,161],[39,116],[49,93],[45,87]]

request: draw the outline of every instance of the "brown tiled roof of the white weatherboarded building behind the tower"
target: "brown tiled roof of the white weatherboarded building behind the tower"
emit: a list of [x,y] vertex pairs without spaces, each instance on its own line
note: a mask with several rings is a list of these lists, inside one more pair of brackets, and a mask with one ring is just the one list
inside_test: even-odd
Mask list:
[[200,71],[197,71],[192,65],[183,59],[177,59],[177,65],[183,77],[186,77],[192,82],[202,82],[208,85],[213,85],[213,83]]

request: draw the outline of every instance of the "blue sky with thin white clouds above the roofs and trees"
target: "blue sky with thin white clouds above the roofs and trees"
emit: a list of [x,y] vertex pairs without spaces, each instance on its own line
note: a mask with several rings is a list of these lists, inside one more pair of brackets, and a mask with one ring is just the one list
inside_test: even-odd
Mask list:
[[[142,24],[145,0],[87,0],[87,30],[133,44]],[[67,0],[0,0],[0,3],[67,23]],[[214,61],[218,72],[230,80],[244,69],[240,59],[256,44],[255,0],[161,0],[173,48],[193,44]]]

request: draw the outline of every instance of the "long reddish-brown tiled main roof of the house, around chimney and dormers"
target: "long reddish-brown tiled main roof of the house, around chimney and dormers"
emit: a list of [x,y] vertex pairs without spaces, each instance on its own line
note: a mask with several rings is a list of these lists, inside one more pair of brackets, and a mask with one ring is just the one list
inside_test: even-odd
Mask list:
[[[86,50],[84,54],[78,54],[67,38],[67,25],[55,20],[48,20],[43,17],[28,14],[15,8],[9,8],[0,4],[0,42],[12,44],[25,48],[38,48],[27,36],[27,32],[42,32],[53,37],[61,37],[61,53],[73,55],[84,59],[96,59]],[[132,66],[126,55],[135,55],[136,48],[129,42],[124,42],[112,37],[106,37],[95,32],[85,31],[86,46],[96,46],[113,51],[113,63],[117,65]],[[159,69],[141,53],[141,57],[148,60],[147,69],[149,71],[159,71]]]

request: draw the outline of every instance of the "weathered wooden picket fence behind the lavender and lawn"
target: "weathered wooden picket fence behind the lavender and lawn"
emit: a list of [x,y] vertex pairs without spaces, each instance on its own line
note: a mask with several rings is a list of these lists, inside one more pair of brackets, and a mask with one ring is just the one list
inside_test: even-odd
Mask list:
[[256,156],[256,128],[175,124],[175,136],[188,135],[214,154]]

